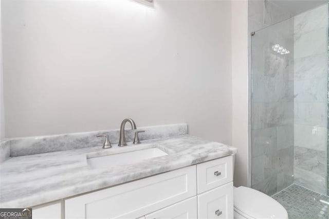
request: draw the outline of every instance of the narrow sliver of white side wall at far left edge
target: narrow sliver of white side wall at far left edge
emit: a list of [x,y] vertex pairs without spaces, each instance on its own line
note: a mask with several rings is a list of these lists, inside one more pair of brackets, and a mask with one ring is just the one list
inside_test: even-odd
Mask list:
[[4,107],[4,84],[3,84],[3,63],[2,63],[2,22],[0,1],[0,140],[5,137],[5,107]]

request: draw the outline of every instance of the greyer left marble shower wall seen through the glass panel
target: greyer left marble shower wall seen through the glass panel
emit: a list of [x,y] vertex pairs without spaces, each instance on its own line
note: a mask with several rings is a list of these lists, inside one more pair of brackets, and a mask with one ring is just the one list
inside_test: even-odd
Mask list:
[[[293,20],[288,20],[252,38],[251,184],[268,195],[294,179],[293,30]],[[277,43],[291,53],[272,51]]]

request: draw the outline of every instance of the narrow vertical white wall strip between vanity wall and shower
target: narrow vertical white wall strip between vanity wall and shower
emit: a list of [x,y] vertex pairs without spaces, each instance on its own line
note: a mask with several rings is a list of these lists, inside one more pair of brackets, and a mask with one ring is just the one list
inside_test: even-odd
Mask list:
[[232,145],[234,186],[249,186],[248,162],[248,2],[232,1]]

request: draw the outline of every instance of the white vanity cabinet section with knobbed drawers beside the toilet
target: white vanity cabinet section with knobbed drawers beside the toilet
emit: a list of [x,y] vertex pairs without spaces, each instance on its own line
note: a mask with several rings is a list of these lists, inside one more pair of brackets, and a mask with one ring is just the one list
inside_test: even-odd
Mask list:
[[65,218],[233,218],[232,156],[65,199]]

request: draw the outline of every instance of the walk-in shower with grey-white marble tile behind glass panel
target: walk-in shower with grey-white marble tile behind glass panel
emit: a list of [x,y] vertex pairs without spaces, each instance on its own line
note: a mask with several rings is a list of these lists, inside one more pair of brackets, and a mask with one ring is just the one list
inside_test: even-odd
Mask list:
[[295,188],[328,191],[328,14],[328,4],[294,14],[249,2],[251,187],[284,200],[289,217]]

